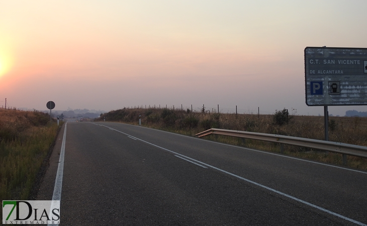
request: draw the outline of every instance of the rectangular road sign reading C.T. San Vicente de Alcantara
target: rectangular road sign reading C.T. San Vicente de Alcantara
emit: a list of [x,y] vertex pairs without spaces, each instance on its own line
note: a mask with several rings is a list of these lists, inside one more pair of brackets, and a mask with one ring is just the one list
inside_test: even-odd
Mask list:
[[367,48],[306,47],[308,106],[367,105]]

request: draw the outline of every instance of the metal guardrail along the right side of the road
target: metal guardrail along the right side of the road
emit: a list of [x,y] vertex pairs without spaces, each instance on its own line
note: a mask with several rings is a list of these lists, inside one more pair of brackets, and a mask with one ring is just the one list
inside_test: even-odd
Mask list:
[[274,134],[261,134],[261,133],[253,133],[253,132],[244,132],[244,131],[234,131],[234,130],[222,130],[222,129],[210,129],[199,134],[196,134],[196,137],[204,137],[210,134],[218,134],[239,138],[247,138],[254,139],[260,141],[269,141],[276,142],[281,144],[289,144],[302,146],[306,148],[314,148],[318,150],[324,150],[329,152],[336,152],[343,154],[343,162],[346,164],[346,156],[344,155],[352,155],[362,158],[367,158],[367,147],[351,145],[339,142],[332,141],[321,141],[314,140],[308,138],[299,138],[299,137],[289,137],[284,135],[274,135]]

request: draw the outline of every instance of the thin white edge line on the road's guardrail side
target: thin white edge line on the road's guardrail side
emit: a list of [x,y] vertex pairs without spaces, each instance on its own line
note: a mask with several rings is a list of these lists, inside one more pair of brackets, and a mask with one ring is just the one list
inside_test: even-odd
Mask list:
[[[101,124],[96,124],[96,125],[101,125]],[[124,125],[137,127],[135,125],[130,125],[130,124],[124,124]],[[103,125],[103,126],[105,126],[105,125]],[[105,126],[105,127],[107,127],[107,126]],[[109,128],[109,127],[107,127],[107,128]],[[286,155],[280,155],[280,154],[277,154],[277,153],[261,151],[261,150],[256,150],[256,149],[252,149],[252,148],[245,148],[245,147],[240,147],[240,146],[235,146],[235,145],[230,145],[230,144],[224,144],[224,143],[215,142],[215,141],[204,140],[204,139],[200,139],[200,138],[196,138],[196,137],[190,137],[190,136],[186,136],[186,135],[182,135],[182,134],[175,134],[175,133],[171,133],[171,132],[167,132],[167,131],[163,131],[163,130],[157,130],[157,129],[153,129],[153,128],[149,128],[149,127],[140,127],[140,128],[145,128],[145,129],[149,129],[149,130],[156,130],[156,131],[160,131],[160,132],[163,132],[163,133],[173,134],[173,135],[182,136],[182,137],[186,137],[186,138],[197,139],[197,140],[201,140],[201,141],[206,141],[206,142],[211,142],[211,143],[215,143],[215,144],[230,146],[230,147],[234,147],[234,148],[240,148],[240,149],[250,150],[250,151],[254,151],[254,152],[269,154],[269,155],[276,155],[276,156],[279,156],[279,157],[284,157],[284,158],[299,160],[299,161],[303,161],[303,162],[309,162],[309,163],[313,163],[313,164],[319,164],[319,165],[323,165],[323,166],[329,166],[329,167],[334,167],[334,168],[338,168],[338,169],[349,170],[349,171],[353,171],[353,172],[357,172],[357,173],[367,174],[367,172],[359,171],[359,170],[355,170],[355,169],[349,169],[349,168],[345,168],[345,167],[341,167],[341,166],[329,165],[329,164],[326,164],[326,163],[313,162],[311,160],[306,160],[306,159],[301,159],[301,158],[296,158],[296,157],[286,156]],[[116,131],[118,131],[118,130],[116,130]],[[120,132],[120,131],[118,131],[118,132]],[[120,132],[120,133],[122,133],[122,132]]]

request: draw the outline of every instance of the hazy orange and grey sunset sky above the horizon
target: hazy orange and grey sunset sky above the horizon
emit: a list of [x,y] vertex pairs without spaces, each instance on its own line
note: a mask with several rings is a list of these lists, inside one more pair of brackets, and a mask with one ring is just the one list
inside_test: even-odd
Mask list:
[[[307,46],[367,47],[367,1],[0,0],[0,105],[272,114],[305,103]],[[330,106],[344,116],[348,109]]]

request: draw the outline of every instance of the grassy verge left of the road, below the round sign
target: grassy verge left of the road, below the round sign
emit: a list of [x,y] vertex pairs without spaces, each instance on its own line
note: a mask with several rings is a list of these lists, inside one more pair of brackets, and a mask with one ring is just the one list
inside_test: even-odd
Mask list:
[[38,111],[0,110],[0,198],[28,200],[44,158],[57,135],[50,116]]

